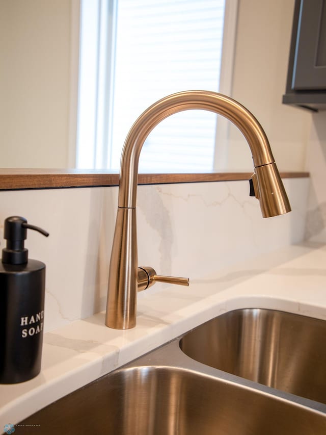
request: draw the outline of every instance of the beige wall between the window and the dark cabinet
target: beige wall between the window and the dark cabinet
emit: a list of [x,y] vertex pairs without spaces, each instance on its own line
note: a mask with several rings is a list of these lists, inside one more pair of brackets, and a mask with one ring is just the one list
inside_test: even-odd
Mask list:
[[[263,126],[280,170],[303,170],[311,113],[282,104],[294,0],[239,0],[233,98]],[[248,147],[230,129],[229,167],[252,168]]]

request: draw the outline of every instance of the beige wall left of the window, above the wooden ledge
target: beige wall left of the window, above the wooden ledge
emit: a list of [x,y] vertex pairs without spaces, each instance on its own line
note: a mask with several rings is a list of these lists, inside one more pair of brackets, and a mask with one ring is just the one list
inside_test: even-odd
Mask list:
[[0,1],[2,167],[67,166],[70,0]]

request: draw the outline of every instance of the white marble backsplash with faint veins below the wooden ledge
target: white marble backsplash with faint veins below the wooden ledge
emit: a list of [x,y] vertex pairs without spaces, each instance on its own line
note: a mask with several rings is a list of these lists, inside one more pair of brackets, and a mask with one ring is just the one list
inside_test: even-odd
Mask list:
[[[139,186],[139,264],[197,279],[304,239],[309,178],[284,180],[292,212],[262,219],[244,181]],[[117,187],[1,191],[6,217],[23,216],[30,258],[46,264],[45,331],[105,309]],[[161,289],[157,284],[148,292]]]

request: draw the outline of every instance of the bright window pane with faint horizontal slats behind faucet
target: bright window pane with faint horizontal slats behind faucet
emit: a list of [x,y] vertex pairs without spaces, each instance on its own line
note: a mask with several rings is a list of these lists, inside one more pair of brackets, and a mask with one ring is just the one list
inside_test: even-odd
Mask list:
[[[112,104],[106,110],[104,133],[96,134],[107,138],[101,167],[119,168],[132,123],[157,99],[182,90],[219,91],[224,9],[225,0],[117,1],[110,36],[113,46],[106,49],[113,54],[110,62],[114,67],[111,65],[111,73],[107,66],[105,69],[110,80],[105,89],[110,89],[107,99]],[[169,117],[146,140],[140,170],[211,170],[215,132],[216,115],[207,111]],[[81,138],[80,132],[78,136]]]

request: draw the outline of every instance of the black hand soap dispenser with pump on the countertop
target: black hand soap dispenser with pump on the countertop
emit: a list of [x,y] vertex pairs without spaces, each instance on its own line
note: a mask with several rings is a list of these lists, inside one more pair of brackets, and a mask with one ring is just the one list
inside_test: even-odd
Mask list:
[[27,229],[48,233],[12,216],[5,220],[0,263],[0,383],[17,383],[40,373],[43,342],[45,264],[28,259]]

